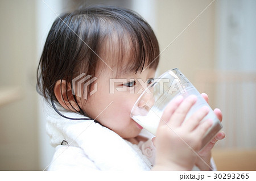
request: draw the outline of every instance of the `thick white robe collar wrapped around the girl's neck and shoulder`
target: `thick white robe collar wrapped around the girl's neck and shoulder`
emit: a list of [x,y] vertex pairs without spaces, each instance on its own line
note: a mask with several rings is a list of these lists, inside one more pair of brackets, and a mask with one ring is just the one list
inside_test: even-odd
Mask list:
[[[67,117],[84,117],[73,112],[61,113]],[[47,133],[53,147],[65,140],[69,146],[84,150],[100,170],[150,170],[152,167],[137,145],[93,120],[69,120],[56,113],[47,118]]]

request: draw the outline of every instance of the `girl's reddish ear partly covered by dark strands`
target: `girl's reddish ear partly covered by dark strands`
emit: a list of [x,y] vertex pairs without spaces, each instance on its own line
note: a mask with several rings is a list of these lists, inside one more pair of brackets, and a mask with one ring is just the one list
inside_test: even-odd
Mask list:
[[67,83],[63,79],[57,81],[54,86],[54,94],[60,105],[66,110],[71,110],[73,112],[80,111],[72,94],[71,83]]

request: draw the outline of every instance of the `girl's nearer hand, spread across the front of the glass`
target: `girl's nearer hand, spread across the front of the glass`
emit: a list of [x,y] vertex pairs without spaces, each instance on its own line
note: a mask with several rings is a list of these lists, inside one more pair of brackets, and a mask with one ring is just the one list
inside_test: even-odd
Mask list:
[[212,125],[212,121],[200,124],[208,107],[196,111],[183,123],[196,99],[195,95],[186,99],[178,96],[164,110],[154,140],[156,158],[152,170],[191,170],[195,165],[195,152],[200,150],[203,136]]

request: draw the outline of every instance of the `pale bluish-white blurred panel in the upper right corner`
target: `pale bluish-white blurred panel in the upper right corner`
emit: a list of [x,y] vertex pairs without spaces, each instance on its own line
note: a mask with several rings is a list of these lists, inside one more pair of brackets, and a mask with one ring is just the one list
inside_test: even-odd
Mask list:
[[216,68],[256,70],[256,1],[216,2]]

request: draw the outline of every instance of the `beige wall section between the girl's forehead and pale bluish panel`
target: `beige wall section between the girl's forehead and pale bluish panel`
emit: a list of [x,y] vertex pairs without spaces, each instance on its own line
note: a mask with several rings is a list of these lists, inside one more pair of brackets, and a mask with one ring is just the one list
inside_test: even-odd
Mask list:
[[[214,3],[201,14],[212,1],[162,0],[157,2],[156,34],[160,51],[169,46],[160,55],[159,72],[179,68],[194,83],[198,70],[213,69]],[[195,20],[197,16],[199,18]]]

